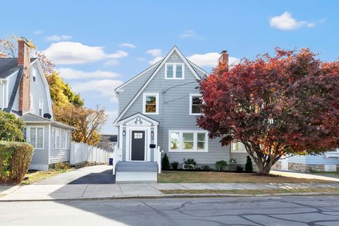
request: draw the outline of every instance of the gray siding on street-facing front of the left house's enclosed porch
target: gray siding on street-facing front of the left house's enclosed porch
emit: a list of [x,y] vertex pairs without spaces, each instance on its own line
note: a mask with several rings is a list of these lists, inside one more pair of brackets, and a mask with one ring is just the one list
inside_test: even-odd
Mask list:
[[[44,127],[44,146],[43,149],[35,149],[32,162],[30,165],[32,166],[41,166],[45,165],[48,167],[48,147],[49,147],[49,124],[30,124],[26,123],[26,126],[43,126]],[[35,169],[40,169],[33,167]]]

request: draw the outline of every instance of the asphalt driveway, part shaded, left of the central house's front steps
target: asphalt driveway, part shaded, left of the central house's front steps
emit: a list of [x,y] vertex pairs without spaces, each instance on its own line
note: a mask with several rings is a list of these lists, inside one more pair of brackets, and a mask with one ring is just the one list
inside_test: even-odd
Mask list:
[[112,165],[96,165],[83,167],[71,172],[65,172],[49,177],[35,185],[46,184],[114,184],[115,176],[112,174]]

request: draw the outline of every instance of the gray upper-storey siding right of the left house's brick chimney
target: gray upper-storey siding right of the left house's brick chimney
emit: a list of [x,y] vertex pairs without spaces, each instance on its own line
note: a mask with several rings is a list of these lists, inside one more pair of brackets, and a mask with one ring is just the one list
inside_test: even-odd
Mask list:
[[33,76],[31,76],[30,78],[30,94],[32,95],[32,98],[33,98],[33,102],[32,102],[33,111],[31,113],[39,115],[39,100],[41,100],[43,103],[42,115],[44,113],[51,114],[51,112],[49,112],[49,108],[47,105],[48,99],[47,99],[46,88],[44,85],[44,81],[42,81],[42,76],[44,76],[44,74],[40,74],[39,70],[37,69],[36,64],[37,63],[32,64],[32,67],[31,67],[31,75],[32,75],[33,67],[37,71],[36,81],[33,82],[33,78],[32,78]]

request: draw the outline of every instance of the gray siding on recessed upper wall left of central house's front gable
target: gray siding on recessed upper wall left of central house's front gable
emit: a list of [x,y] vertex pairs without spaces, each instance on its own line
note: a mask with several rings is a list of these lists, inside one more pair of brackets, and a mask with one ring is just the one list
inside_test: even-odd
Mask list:
[[[157,65],[160,63],[157,63]],[[125,85],[122,90],[123,92],[119,93],[119,114],[124,110],[124,108],[129,104],[129,102],[133,99],[133,97],[138,93],[141,89],[143,84],[150,78],[152,73],[157,69],[155,66],[153,69],[144,73],[142,76],[136,78],[135,80],[131,81],[131,83]]]

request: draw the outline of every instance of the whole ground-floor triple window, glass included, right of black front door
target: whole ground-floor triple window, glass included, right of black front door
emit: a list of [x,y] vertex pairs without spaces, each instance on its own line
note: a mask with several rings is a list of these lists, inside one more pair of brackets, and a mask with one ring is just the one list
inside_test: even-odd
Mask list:
[[206,131],[169,131],[169,151],[207,152],[208,133]]

